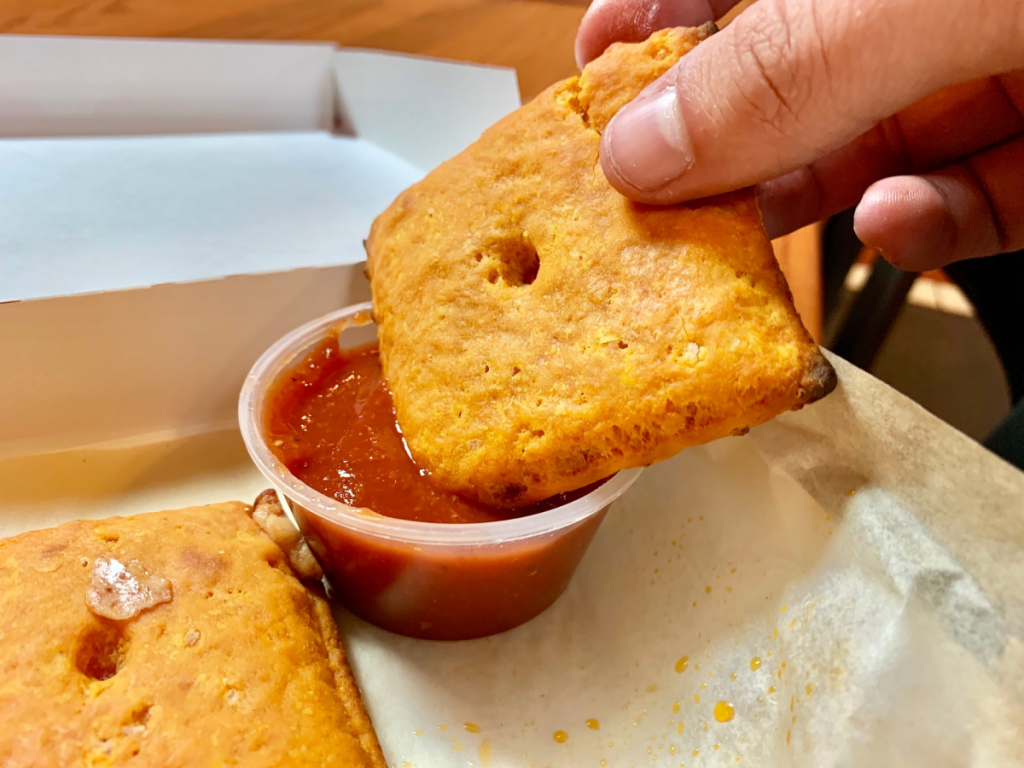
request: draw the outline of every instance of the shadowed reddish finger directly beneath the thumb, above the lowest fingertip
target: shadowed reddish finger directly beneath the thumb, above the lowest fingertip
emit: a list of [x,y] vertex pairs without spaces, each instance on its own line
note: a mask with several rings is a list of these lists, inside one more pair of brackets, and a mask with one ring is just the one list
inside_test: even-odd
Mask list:
[[932,171],[1020,133],[1024,73],[947,88],[821,160],[760,184],[765,228],[780,237],[850,208],[879,179]]

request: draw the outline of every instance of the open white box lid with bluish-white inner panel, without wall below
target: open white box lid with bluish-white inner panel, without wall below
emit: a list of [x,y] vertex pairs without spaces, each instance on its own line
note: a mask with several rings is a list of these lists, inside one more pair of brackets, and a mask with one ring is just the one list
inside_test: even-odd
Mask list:
[[507,70],[321,44],[0,37],[0,301],[359,261],[519,103]]

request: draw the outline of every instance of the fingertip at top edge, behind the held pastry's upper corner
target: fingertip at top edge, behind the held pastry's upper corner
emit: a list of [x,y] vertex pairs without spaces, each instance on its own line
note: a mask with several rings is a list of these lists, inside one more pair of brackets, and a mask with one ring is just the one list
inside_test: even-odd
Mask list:
[[670,27],[699,27],[721,18],[739,0],[594,0],[577,33],[582,70],[615,42],[638,43]]

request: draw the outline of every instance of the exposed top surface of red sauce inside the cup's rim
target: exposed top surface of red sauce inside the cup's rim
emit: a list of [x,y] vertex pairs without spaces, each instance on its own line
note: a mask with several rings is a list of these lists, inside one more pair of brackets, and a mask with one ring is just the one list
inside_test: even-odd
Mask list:
[[413,461],[394,416],[377,344],[327,338],[268,392],[266,439],[310,487],[352,507],[420,522],[472,523],[536,514],[600,483],[529,507],[500,509],[435,486]]

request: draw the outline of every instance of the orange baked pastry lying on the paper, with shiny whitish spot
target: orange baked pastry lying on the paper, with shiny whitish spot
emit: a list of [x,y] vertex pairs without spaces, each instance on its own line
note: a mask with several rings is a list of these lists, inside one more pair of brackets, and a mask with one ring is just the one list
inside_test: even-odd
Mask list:
[[0,765],[385,768],[327,601],[252,512],[0,541]]

